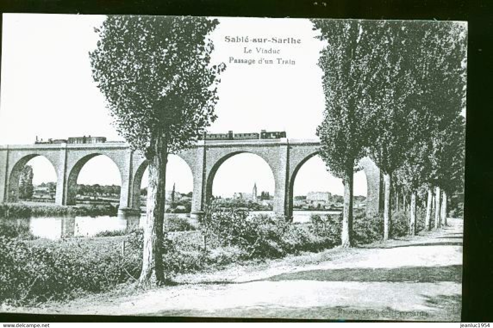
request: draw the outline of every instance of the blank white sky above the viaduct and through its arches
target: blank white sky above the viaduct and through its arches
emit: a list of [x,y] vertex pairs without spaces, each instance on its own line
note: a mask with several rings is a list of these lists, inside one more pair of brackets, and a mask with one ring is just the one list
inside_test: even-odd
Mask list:
[[[121,140],[111,126],[105,99],[91,77],[88,52],[96,47],[104,16],[4,14],[2,27],[0,144],[31,144],[36,135],[43,139],[69,136],[106,136]],[[317,66],[321,41],[314,38],[306,19],[220,18],[211,34],[212,60],[226,63],[221,75],[218,119],[211,132],[286,131],[288,138],[314,138],[322,119],[324,96],[321,70]],[[301,44],[272,45],[281,55],[258,55],[255,45],[228,43],[225,36],[300,38]],[[245,55],[244,46],[252,54]],[[256,59],[287,58],[293,66],[244,65],[228,63],[229,57]],[[248,56],[248,57],[246,57]],[[44,158],[35,158],[35,183],[55,181],[55,172]],[[102,171],[101,167],[105,167]],[[234,183],[232,183],[234,181]],[[169,161],[167,188],[192,190],[191,172],[178,157]],[[219,168],[214,195],[258,192],[274,193],[274,179],[267,163],[251,154],[240,154]],[[78,178],[85,184],[120,184],[116,165],[104,156],[89,161]],[[142,187],[146,185],[146,179]],[[363,172],[356,174],[355,195],[366,195]],[[342,195],[342,183],[331,177],[318,158],[300,169],[295,195],[329,191]]]

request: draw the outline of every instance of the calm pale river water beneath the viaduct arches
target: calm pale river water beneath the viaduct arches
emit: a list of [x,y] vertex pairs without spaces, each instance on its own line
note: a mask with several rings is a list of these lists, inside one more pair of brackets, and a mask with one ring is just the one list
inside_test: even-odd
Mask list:
[[[338,214],[340,211],[294,211],[293,223],[306,223],[312,214]],[[252,211],[251,215],[273,215],[272,211]],[[189,218],[190,214],[166,214]],[[59,239],[61,237],[93,237],[103,231],[131,231],[143,227],[145,214],[140,217],[124,216],[76,216],[41,217],[28,219],[0,219],[0,224],[8,224],[18,231],[29,232],[38,238]]]

